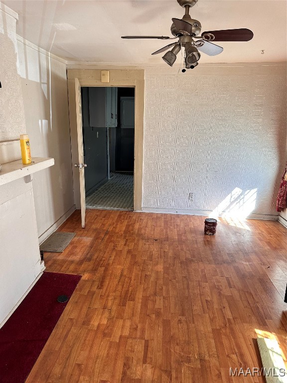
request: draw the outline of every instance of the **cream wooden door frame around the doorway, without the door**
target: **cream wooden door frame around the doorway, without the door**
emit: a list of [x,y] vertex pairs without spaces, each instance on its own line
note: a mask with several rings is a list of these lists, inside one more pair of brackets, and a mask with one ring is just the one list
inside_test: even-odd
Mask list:
[[144,108],[144,70],[109,69],[110,82],[101,82],[101,69],[68,69],[68,99],[71,134],[72,170],[74,200],[76,208],[81,207],[79,170],[74,167],[78,162],[78,137],[76,116],[75,79],[85,87],[129,87],[135,88],[135,156],[134,156],[134,211],[142,211],[143,199],[143,108]]

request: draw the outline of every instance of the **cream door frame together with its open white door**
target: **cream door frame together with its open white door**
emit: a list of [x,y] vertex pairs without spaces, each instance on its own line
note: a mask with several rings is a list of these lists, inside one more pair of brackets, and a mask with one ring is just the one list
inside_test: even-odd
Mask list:
[[[105,70],[108,68],[105,68]],[[134,210],[143,210],[143,111],[144,70],[116,68],[110,71],[110,87],[135,89],[135,166],[134,166]],[[81,209],[81,225],[85,227],[85,164],[82,129],[81,87],[105,87],[101,81],[102,69],[68,69],[68,97],[71,132],[71,152],[74,200]]]

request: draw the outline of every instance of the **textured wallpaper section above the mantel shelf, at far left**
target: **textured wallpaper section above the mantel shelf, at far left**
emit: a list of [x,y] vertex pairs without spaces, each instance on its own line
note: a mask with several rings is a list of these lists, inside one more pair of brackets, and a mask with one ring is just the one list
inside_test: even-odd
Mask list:
[[0,8],[0,142],[26,132],[17,62],[16,19]]

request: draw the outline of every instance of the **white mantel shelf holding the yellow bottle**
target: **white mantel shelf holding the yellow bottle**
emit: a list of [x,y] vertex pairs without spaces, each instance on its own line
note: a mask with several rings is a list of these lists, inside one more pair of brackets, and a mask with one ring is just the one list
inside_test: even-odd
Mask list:
[[2,165],[0,170],[0,185],[18,180],[39,170],[49,168],[54,165],[53,158],[34,157],[29,165],[23,165],[22,160],[7,162]]

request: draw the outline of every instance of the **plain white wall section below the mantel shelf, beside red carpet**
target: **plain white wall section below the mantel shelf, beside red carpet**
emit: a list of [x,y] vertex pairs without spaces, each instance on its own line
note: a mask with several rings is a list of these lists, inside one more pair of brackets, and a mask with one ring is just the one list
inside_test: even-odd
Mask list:
[[0,217],[1,327],[43,266],[29,180],[21,178],[0,186]]

